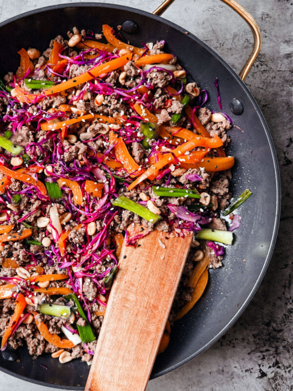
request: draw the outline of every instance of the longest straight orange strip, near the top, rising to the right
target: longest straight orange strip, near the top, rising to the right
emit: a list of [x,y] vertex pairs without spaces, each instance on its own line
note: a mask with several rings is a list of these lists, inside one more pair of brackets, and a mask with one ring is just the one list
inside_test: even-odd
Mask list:
[[[121,56],[119,58],[115,58],[114,60],[108,61],[105,64],[101,64],[93,67],[87,72],[82,73],[79,76],[76,76],[73,79],[69,79],[64,83],[56,84],[46,90],[44,90],[45,95],[55,94],[56,92],[64,91],[65,89],[71,87],[77,87],[82,83],[88,82],[93,77],[97,77],[102,73],[108,73],[112,70],[120,68],[120,66],[125,65],[132,58],[132,53],[126,54],[125,56]],[[90,73],[89,73],[90,72]]]

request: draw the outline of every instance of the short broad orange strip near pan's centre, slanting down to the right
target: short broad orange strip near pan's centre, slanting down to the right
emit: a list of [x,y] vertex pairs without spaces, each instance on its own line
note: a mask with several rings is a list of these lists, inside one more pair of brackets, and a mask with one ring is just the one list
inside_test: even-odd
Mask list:
[[131,174],[130,176],[132,178],[143,172],[128,152],[122,137],[120,137],[117,133],[114,133],[112,130],[109,135],[109,143],[110,145],[115,145],[113,149],[116,159],[123,164],[123,167],[126,169],[128,174]]

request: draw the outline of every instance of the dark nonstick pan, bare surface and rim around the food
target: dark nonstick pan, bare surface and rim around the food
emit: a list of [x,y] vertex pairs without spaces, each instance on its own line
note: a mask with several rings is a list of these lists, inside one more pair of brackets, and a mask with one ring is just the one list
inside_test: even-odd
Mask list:
[[[19,65],[18,50],[28,46],[45,49],[57,34],[73,26],[95,32],[102,24],[111,26],[135,21],[136,35],[123,33],[132,44],[167,41],[167,52],[175,53],[192,78],[209,90],[209,108],[218,110],[213,81],[221,83],[223,109],[241,128],[230,130],[229,153],[236,156],[232,192],[239,195],[250,188],[253,195],[241,206],[242,226],[224,260],[224,267],[211,270],[203,298],[171,332],[167,350],[155,362],[152,377],[160,376],[186,363],[209,348],[235,322],[250,302],[270,261],[277,234],[280,187],[277,159],[266,122],[251,93],[230,66],[205,43],[185,29],[160,17],[132,8],[99,3],[56,5],[27,12],[0,23],[0,77]],[[7,45],[9,42],[9,45]],[[257,83],[257,80],[255,81]],[[232,98],[244,107],[242,115],[230,112]],[[246,260],[245,262],[243,260]],[[26,348],[18,350],[20,361],[7,361],[0,355],[0,368],[34,383],[62,389],[82,390],[88,367],[79,360],[61,365],[44,355],[35,360]],[[46,369],[47,367],[48,369]]]

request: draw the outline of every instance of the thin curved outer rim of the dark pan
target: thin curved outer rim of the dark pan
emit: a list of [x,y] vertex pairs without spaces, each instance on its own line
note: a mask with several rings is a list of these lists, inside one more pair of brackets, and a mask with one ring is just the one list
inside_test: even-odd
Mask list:
[[[95,8],[99,8],[99,7],[103,7],[103,8],[112,8],[112,9],[116,9],[116,10],[125,10],[125,11],[130,11],[130,12],[134,12],[134,13],[138,13],[140,15],[145,15],[146,17],[148,18],[152,18],[154,20],[157,20],[159,22],[164,22],[165,24],[169,25],[170,27],[173,27],[174,29],[176,29],[177,31],[180,31],[182,33],[185,33],[185,32],[188,32],[188,30],[184,29],[183,27],[173,23],[173,22],[170,22],[168,21],[167,19],[165,18],[162,18],[162,17],[159,17],[159,16],[156,16],[156,15],[153,15],[149,12],[146,12],[146,11],[143,11],[143,10],[138,10],[138,9],[135,9],[135,8],[132,8],[132,7],[128,7],[128,6],[125,6],[125,5],[119,5],[119,4],[111,4],[111,3],[99,3],[99,2],[82,2],[82,3],[63,3],[63,4],[55,4],[55,5],[50,5],[50,6],[46,6],[46,7],[42,7],[42,8],[37,8],[35,10],[31,10],[31,11],[27,11],[27,12],[24,12],[20,15],[17,15],[17,16],[14,16],[12,18],[9,18],[3,22],[0,22],[0,27],[6,25],[6,24],[9,24],[11,22],[14,22],[16,20],[19,20],[21,18],[24,18],[24,17],[27,17],[27,16],[31,16],[31,15],[36,15],[38,13],[41,13],[41,12],[45,12],[45,11],[49,11],[49,10],[54,10],[54,9],[62,9],[62,8],[76,8],[76,7],[95,7]],[[191,355],[189,355],[188,357],[186,357],[184,360],[181,360],[180,362],[174,364],[174,365],[171,365],[169,366],[168,368],[164,369],[164,370],[161,370],[155,374],[153,374],[151,376],[151,379],[153,378],[156,378],[156,377],[159,377],[159,376],[162,376],[174,369],[177,369],[179,367],[181,367],[182,365],[186,364],[188,361],[190,361],[191,359],[195,358],[196,356],[198,356],[199,354],[201,354],[202,352],[204,352],[206,349],[208,349],[210,346],[212,346],[221,336],[223,336],[227,331],[228,329],[236,322],[236,320],[240,317],[240,315],[243,313],[243,311],[246,309],[246,307],[248,306],[248,304],[250,303],[251,299],[253,298],[254,294],[256,293],[256,290],[258,289],[265,273],[266,273],[266,270],[268,268],[268,265],[270,263],[270,260],[272,258],[272,253],[273,253],[273,249],[274,249],[274,245],[275,245],[275,242],[276,242],[276,238],[277,238],[277,233],[278,233],[278,227],[279,227],[279,219],[280,219],[280,199],[281,199],[281,190],[280,190],[280,172],[279,172],[279,166],[278,166],[278,161],[277,161],[277,155],[276,155],[276,152],[275,152],[275,148],[274,148],[274,144],[273,144],[273,141],[272,141],[272,135],[270,133],[270,130],[268,128],[268,125],[266,123],[266,120],[259,108],[259,106],[257,105],[254,97],[252,96],[251,92],[249,91],[248,87],[245,85],[245,83],[240,79],[240,77],[238,76],[238,74],[231,68],[231,66],[221,57],[219,56],[209,45],[207,45],[206,43],[204,43],[203,41],[201,41],[200,39],[198,39],[195,35],[193,35],[192,33],[188,32],[188,37],[191,38],[193,41],[195,41],[196,43],[200,44],[201,46],[203,46],[205,49],[207,49],[209,51],[209,53],[215,57],[231,74],[231,76],[233,76],[235,78],[236,81],[238,81],[239,85],[244,89],[244,91],[246,92],[247,96],[249,97],[250,101],[251,101],[251,104],[253,105],[259,119],[260,119],[260,122],[262,124],[262,128],[266,134],[266,137],[267,137],[267,140],[268,140],[268,144],[269,144],[269,147],[270,147],[270,151],[271,151],[271,155],[272,155],[272,163],[273,163],[273,169],[274,169],[274,179],[275,179],[275,191],[276,191],[276,205],[275,205],[275,211],[274,211],[274,223],[273,223],[273,228],[272,228],[272,238],[271,238],[271,242],[270,242],[270,246],[268,248],[268,253],[267,253],[267,256],[265,258],[265,261],[263,263],[263,267],[260,271],[260,274],[257,278],[257,280],[255,281],[254,285],[253,285],[253,288],[251,289],[251,293],[250,295],[246,298],[245,302],[239,307],[239,309],[237,310],[237,312],[235,313],[235,315],[233,316],[232,319],[230,319],[230,321],[228,322],[228,324],[226,324],[225,327],[223,327],[221,329],[221,331],[218,332],[218,334],[216,334],[206,345],[204,345],[202,348],[196,350],[194,353],[192,353]],[[35,380],[35,379],[31,379],[29,377],[26,377],[26,376],[22,376],[22,375],[19,375],[9,369],[5,369],[5,368],[2,368],[0,367],[0,370],[9,374],[9,375],[12,375],[14,377],[17,377],[17,378],[20,378],[22,380],[25,380],[27,382],[31,382],[31,383],[34,383],[34,384],[39,384],[39,385],[42,385],[42,386],[45,386],[45,387],[51,387],[51,388],[59,388],[59,389],[63,389],[63,390],[84,390],[83,387],[79,387],[79,386],[65,386],[65,385],[58,385],[58,384],[52,384],[52,383],[46,383],[46,382],[42,382],[40,380]]]

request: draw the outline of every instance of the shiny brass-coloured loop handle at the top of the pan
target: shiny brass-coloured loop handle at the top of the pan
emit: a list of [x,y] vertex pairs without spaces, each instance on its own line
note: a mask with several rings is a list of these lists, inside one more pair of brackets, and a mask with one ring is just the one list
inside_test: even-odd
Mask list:
[[[159,7],[153,12],[153,14],[158,15],[158,16],[162,15],[167,10],[169,5],[172,4],[173,1],[174,0],[163,1],[162,4],[159,5]],[[243,8],[242,5],[237,3],[237,1],[235,1],[235,0],[222,0],[222,1],[226,4],[228,4],[234,11],[236,11],[237,14],[240,15],[241,18],[243,18],[245,20],[245,22],[248,23],[248,25],[250,26],[251,31],[252,31],[253,48],[252,48],[251,54],[250,54],[247,62],[244,64],[243,68],[241,69],[241,72],[239,73],[239,77],[244,81],[246,79],[246,76],[248,75],[248,72],[249,72],[252,64],[256,60],[256,57],[260,51],[260,46],[261,46],[260,30],[259,30],[257,23],[255,22],[255,20],[251,16],[251,14],[245,8]]]

